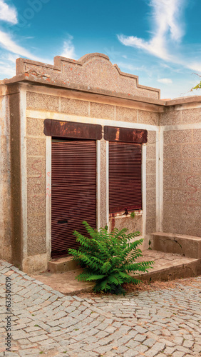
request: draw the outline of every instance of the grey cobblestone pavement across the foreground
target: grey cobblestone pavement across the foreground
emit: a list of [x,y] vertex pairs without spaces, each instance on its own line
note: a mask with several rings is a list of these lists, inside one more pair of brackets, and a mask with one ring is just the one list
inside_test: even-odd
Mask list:
[[[124,297],[81,298],[0,261],[0,356],[201,356],[201,277],[194,280]],[[11,352],[5,352],[9,316]]]

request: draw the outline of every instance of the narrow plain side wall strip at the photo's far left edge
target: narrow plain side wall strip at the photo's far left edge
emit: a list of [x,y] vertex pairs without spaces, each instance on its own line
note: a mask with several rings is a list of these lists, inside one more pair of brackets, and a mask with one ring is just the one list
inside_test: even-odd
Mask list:
[[11,155],[9,98],[0,87],[0,257],[11,261]]

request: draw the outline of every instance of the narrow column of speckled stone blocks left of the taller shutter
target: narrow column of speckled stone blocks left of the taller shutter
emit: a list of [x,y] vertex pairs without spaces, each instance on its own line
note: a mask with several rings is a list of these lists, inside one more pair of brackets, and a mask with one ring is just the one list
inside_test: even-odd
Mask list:
[[46,136],[43,119],[27,118],[27,250],[46,253]]

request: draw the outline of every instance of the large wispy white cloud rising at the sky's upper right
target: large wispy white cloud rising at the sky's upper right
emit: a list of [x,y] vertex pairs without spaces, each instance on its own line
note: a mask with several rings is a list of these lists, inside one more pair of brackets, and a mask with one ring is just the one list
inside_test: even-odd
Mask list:
[[[178,46],[184,35],[181,16],[186,3],[187,0],[150,0],[150,17],[153,23],[151,39],[146,41],[137,36],[121,34],[118,35],[118,40],[125,46],[142,49],[165,61],[200,72],[200,61],[195,61],[188,54],[182,55],[181,47]],[[195,51],[191,50],[191,53],[195,58]]]

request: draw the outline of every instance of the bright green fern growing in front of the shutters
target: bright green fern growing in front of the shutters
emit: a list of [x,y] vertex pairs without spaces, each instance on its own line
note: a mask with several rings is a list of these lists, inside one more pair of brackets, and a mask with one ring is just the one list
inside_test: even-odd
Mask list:
[[80,247],[68,250],[73,255],[73,260],[81,263],[84,268],[83,272],[76,276],[78,281],[96,281],[93,291],[115,294],[125,293],[123,283],[140,283],[140,280],[129,273],[148,272],[153,265],[153,261],[135,262],[136,258],[142,256],[137,247],[143,243],[143,238],[131,240],[140,236],[140,232],[126,234],[126,228],[121,231],[115,228],[109,233],[107,226],[97,231],[86,221],[83,221],[83,225],[91,238],[74,231]]

